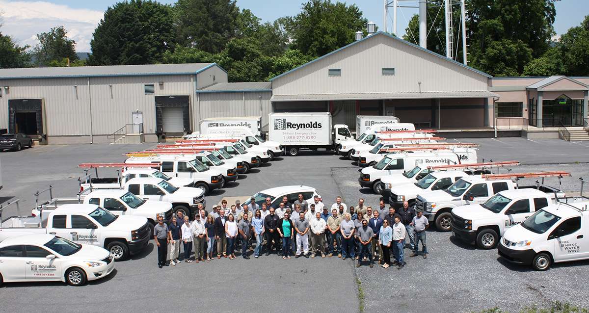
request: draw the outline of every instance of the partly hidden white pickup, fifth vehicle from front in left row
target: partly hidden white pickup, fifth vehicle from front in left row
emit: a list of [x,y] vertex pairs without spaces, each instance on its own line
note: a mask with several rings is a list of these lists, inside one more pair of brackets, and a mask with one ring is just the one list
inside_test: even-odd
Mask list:
[[[154,165],[158,167],[158,165]],[[80,192],[85,191],[88,188],[92,189],[118,189],[121,188],[129,179],[135,177],[153,177],[164,179],[164,181],[170,182],[174,186],[188,186],[191,187],[194,184],[193,179],[181,178],[181,177],[169,177],[168,175],[158,171],[154,168],[127,168],[119,172],[118,177],[91,177],[87,175],[85,178],[80,179]]]

